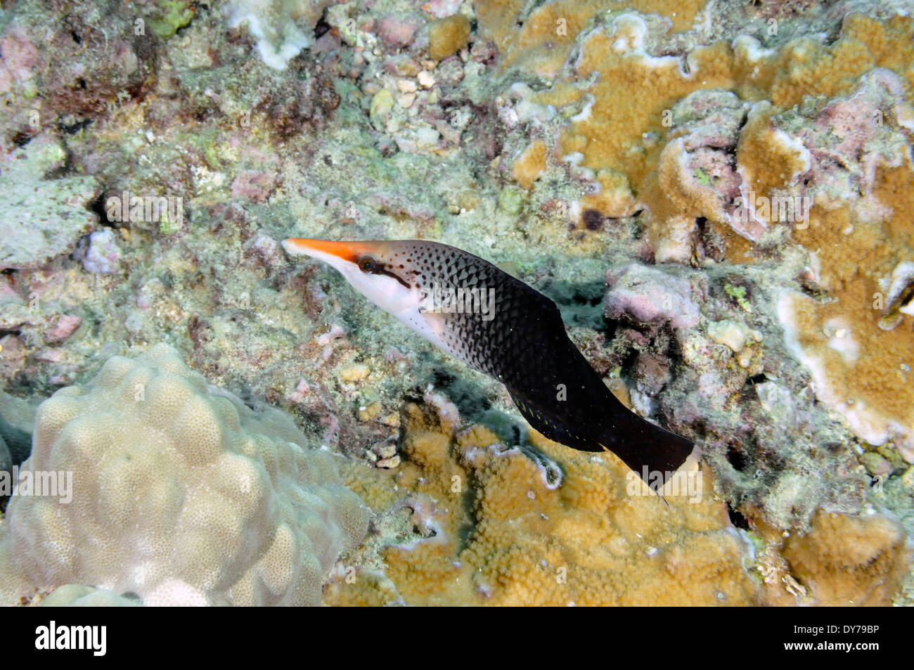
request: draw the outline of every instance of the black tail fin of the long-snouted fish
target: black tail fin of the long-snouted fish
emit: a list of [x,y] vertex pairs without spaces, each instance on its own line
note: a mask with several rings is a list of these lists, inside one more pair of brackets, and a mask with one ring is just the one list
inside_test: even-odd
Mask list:
[[600,446],[622,459],[657,495],[689,455],[698,455],[693,441],[637,415],[623,423],[603,431]]

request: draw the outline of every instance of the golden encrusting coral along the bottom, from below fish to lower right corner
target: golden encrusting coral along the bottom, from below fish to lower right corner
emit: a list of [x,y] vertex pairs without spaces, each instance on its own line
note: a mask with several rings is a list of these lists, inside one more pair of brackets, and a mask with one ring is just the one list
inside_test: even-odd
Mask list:
[[375,510],[378,534],[350,557],[348,578],[327,587],[329,603],[886,604],[910,564],[898,522],[885,516],[827,516],[786,549],[776,531],[750,540],[707,470],[681,480],[689,484],[666,506],[632,487],[609,454],[537,433],[532,449],[505,446],[462,424],[436,393],[407,405],[402,426],[399,471],[343,469]]

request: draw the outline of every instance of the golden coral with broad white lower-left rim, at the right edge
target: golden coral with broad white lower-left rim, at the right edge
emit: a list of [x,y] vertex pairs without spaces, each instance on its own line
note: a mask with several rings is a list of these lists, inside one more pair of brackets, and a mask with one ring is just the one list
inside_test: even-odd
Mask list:
[[878,444],[894,437],[910,458],[914,317],[899,314],[902,321],[893,330],[880,328],[887,296],[877,280],[899,261],[914,261],[912,166],[877,171],[873,197],[880,207],[870,211],[881,210],[882,217],[843,203],[816,204],[809,228],[794,230],[794,239],[813,253],[831,300],[785,295],[781,322],[813,371],[817,396],[844,414],[863,439]]

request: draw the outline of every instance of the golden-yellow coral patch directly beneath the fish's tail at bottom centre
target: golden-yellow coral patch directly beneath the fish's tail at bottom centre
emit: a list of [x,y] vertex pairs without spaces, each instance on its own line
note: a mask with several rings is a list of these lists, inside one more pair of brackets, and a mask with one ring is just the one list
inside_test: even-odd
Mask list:
[[[429,408],[403,412],[407,459],[389,477],[435,534],[379,548],[383,576],[337,580],[330,603],[369,604],[749,604],[745,541],[709,489],[689,504],[628,495],[626,468],[609,454],[574,452],[533,435],[564,469],[561,485],[482,426],[455,431]],[[375,493],[346,481],[380,514],[396,507],[381,481]],[[707,473],[706,473],[707,475]],[[418,496],[418,497],[417,497]],[[412,503],[414,506],[420,506]],[[388,583],[389,580],[389,583]],[[394,585],[396,591],[391,590]],[[383,590],[384,592],[379,592]]]

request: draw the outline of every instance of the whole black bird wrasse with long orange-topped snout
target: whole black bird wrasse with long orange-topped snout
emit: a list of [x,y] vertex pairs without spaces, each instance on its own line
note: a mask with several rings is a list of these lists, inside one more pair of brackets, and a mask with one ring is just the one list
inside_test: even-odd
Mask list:
[[556,303],[489,261],[413,239],[282,246],[332,265],[378,307],[500,381],[549,440],[612,452],[645,481],[646,467],[655,492],[695,448],[616,399],[569,339]]

